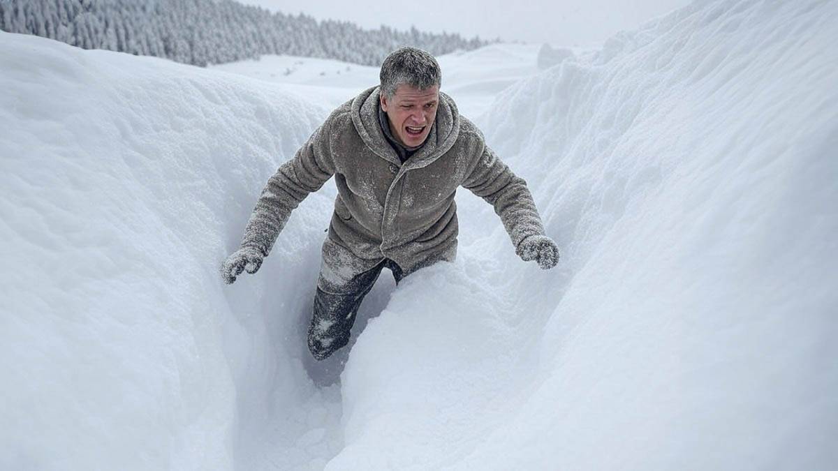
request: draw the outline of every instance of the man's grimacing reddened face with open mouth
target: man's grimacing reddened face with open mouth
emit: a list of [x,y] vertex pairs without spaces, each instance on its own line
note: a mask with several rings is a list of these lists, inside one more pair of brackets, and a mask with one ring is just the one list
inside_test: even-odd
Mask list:
[[419,90],[411,85],[399,85],[396,94],[381,96],[381,109],[387,113],[390,131],[402,144],[415,148],[425,142],[437,117],[439,85]]

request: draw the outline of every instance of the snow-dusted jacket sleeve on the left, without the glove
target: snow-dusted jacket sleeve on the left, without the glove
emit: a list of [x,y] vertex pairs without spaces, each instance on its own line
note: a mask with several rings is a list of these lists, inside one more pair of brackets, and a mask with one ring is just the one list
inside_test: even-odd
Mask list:
[[267,180],[247,221],[241,247],[254,247],[267,256],[291,211],[332,177],[330,124],[331,120],[327,120],[318,127],[294,158],[283,163]]

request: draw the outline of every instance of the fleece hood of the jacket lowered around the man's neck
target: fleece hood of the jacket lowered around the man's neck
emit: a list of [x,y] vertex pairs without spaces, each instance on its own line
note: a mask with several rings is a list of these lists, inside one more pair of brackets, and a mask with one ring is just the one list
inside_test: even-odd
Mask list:
[[[387,142],[378,117],[380,87],[374,86],[362,91],[352,101],[351,115],[355,129],[366,146],[380,158],[401,166],[396,151]],[[428,133],[425,143],[404,165],[409,168],[422,168],[447,153],[460,131],[460,115],[453,99],[439,92],[437,117]]]

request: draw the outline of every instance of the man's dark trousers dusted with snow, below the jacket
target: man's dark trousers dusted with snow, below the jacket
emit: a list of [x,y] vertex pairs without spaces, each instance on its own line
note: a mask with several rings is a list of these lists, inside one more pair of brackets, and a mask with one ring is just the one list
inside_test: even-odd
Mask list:
[[355,314],[385,267],[393,272],[396,284],[405,277],[395,261],[385,258],[335,290],[339,294],[323,291],[318,286],[314,296],[312,323],[308,327],[308,349],[315,359],[324,360],[349,343]]

